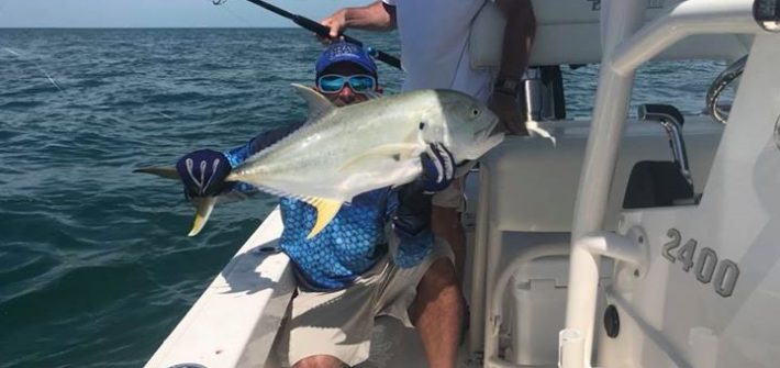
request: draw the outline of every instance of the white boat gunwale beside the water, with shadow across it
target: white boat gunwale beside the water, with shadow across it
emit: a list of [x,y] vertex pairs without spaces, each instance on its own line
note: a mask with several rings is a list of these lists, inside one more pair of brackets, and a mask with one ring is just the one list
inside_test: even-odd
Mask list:
[[289,258],[275,250],[281,228],[276,209],[146,367],[261,367],[266,363],[294,288]]

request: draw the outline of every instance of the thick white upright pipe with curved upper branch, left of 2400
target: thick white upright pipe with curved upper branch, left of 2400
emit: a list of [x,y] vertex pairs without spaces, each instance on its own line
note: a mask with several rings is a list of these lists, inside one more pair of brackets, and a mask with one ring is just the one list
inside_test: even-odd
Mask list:
[[591,366],[600,255],[577,244],[603,228],[636,69],[691,35],[764,32],[753,19],[750,0],[689,0],[642,26],[646,8],[646,0],[601,1],[603,56],[575,207],[566,313],[567,334],[581,336],[570,341],[583,346],[570,349],[581,357],[560,355],[564,368]]

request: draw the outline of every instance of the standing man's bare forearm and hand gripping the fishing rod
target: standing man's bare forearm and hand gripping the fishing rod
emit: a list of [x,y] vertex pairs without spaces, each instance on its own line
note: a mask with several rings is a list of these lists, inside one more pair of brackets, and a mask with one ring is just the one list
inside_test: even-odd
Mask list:
[[342,8],[320,21],[331,29],[331,38],[338,37],[346,29],[390,31],[395,29],[395,7],[392,1],[377,0],[366,7]]

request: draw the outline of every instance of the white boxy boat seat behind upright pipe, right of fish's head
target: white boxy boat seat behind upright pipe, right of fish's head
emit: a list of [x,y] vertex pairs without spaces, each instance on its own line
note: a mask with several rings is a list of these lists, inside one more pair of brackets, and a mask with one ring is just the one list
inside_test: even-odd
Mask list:
[[[688,118],[686,145],[693,182],[703,190],[723,126],[707,116]],[[567,126],[569,125],[569,126]],[[510,136],[481,158],[480,205],[495,231],[569,232],[588,141],[588,124],[547,122],[556,144],[538,137]],[[666,135],[657,126],[626,124],[610,189],[605,230],[615,230],[628,178],[639,161],[670,159]]]

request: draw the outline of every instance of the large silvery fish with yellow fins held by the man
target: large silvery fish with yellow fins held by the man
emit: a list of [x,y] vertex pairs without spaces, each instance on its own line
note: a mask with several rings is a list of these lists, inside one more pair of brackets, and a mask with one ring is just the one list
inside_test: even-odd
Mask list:
[[[250,156],[227,180],[315,207],[309,237],[353,197],[419,177],[420,155],[430,143],[444,144],[461,164],[503,141],[502,133],[493,133],[498,116],[465,93],[419,90],[337,108],[311,88],[293,87],[309,105],[307,123]],[[159,170],[141,169],[161,175]],[[190,235],[200,231],[214,203],[213,198],[200,200]]]

